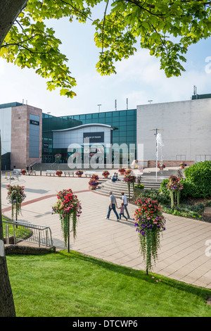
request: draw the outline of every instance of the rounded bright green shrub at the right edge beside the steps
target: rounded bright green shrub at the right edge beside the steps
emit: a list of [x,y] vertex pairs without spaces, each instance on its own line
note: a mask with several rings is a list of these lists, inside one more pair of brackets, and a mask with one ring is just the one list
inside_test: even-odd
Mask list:
[[211,161],[198,162],[184,170],[186,180],[194,188],[193,197],[207,198],[211,196]]

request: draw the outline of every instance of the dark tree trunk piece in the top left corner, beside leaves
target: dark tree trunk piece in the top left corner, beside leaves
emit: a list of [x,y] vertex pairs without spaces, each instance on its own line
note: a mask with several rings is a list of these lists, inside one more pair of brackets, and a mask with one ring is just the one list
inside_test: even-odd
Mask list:
[[27,0],[0,0],[0,49],[15,19],[27,5]]

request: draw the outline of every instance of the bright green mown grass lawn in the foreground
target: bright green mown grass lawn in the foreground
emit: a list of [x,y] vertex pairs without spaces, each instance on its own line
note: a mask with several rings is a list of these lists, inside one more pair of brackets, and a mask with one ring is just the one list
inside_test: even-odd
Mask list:
[[6,259],[18,317],[211,316],[208,289],[75,251]]

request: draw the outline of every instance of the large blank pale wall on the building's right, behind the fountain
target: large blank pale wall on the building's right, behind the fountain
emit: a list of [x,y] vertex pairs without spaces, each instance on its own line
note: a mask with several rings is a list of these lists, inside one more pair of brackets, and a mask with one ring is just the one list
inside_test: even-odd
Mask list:
[[211,99],[137,106],[137,144],[143,144],[145,160],[155,159],[156,128],[163,160],[211,160]]

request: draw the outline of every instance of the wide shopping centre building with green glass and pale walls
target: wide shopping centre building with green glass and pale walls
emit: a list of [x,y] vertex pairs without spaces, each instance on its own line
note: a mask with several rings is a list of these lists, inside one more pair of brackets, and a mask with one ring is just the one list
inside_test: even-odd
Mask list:
[[[153,167],[158,156],[158,133],[162,138],[158,160],[166,166],[177,166],[181,161],[191,165],[211,160],[211,95],[59,117],[13,102],[0,105],[0,130],[2,170],[52,164],[56,159],[72,162],[73,167],[77,156],[82,168],[91,159],[99,168],[101,164],[108,168],[118,163],[129,166],[136,159],[145,167]],[[115,154],[117,146],[119,155]]]

